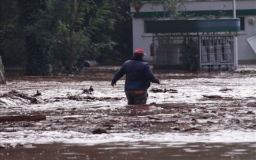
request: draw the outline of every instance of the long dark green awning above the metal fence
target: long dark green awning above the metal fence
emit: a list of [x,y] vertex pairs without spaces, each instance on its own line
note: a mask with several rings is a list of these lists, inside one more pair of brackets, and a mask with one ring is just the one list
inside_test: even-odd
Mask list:
[[146,33],[199,33],[225,31],[240,31],[240,19],[145,20]]

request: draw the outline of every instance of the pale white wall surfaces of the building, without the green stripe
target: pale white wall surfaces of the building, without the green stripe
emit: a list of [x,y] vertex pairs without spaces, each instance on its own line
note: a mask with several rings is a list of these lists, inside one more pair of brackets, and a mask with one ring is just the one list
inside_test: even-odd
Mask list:
[[[191,1],[185,4],[186,11],[223,11],[233,10],[233,1]],[[256,10],[255,0],[236,0],[237,10]],[[150,3],[145,4],[140,9],[140,13],[144,12],[162,12],[164,11],[163,6],[153,6]],[[135,13],[134,7],[131,7],[131,12]],[[249,11],[250,14],[250,11]],[[229,16],[230,17],[230,16]],[[243,15],[243,13],[237,14],[237,17],[245,17],[245,30],[238,33],[238,62],[250,62],[256,63],[256,54],[251,49],[250,45],[246,42],[246,39],[256,35],[256,22],[254,25],[249,25],[247,22],[249,17],[253,17],[256,21],[256,15],[254,12],[251,15]],[[148,55],[145,57],[147,61],[153,60],[150,57],[150,44],[153,42],[153,34],[147,34],[144,32],[144,21],[152,18],[134,18],[133,19],[133,49],[142,49]],[[163,18],[157,18],[163,19]],[[255,44],[256,45],[256,44]]]

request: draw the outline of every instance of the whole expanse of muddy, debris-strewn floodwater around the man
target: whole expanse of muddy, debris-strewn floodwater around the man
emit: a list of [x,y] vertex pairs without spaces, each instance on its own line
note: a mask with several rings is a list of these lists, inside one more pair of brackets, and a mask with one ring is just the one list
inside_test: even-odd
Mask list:
[[[126,105],[124,78],[110,86],[117,69],[7,76],[1,159],[256,158],[256,66],[236,73],[155,69],[161,85],[151,84],[140,106]],[[3,120],[9,115],[46,119]]]

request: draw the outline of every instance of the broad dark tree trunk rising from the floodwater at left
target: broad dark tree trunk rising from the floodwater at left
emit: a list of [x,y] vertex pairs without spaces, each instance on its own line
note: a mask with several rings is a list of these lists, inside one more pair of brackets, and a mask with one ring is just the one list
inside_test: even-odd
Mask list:
[[26,73],[28,75],[49,75],[51,65],[51,7],[50,0],[19,0],[19,25],[26,33]]

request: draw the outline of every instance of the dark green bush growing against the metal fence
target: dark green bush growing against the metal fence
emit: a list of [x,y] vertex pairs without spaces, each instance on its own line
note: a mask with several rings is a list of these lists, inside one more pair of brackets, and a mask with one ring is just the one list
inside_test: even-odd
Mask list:
[[185,69],[191,71],[200,69],[198,43],[192,38],[182,43],[180,61]]

